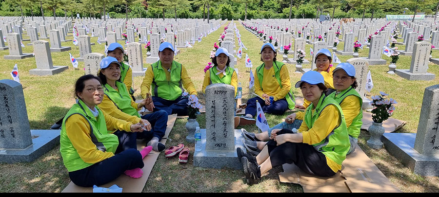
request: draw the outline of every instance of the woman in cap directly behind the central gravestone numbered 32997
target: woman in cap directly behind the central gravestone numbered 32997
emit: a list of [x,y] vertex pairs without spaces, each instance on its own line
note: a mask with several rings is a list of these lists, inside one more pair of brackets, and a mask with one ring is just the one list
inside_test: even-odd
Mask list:
[[238,76],[235,70],[229,67],[230,59],[227,49],[217,49],[215,57],[212,58],[212,63],[214,66],[207,70],[204,75],[202,87],[203,94],[206,91],[206,87],[210,84],[228,84],[235,87],[236,96],[236,91],[238,90]]

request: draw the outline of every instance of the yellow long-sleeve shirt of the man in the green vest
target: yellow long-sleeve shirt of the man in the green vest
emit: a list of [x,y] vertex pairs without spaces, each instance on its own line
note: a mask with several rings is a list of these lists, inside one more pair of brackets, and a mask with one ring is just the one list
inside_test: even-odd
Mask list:
[[[171,80],[171,72],[168,72],[168,70],[166,69],[163,69],[163,71],[166,74],[166,79],[168,81]],[[145,72],[145,77],[143,78],[142,84],[140,85],[140,94],[142,95],[142,98],[146,98],[146,93],[150,92],[151,83],[153,79],[154,79],[153,68],[152,65],[149,65],[148,69]],[[192,83],[192,80],[187,74],[187,71],[183,65],[181,65],[181,81],[183,83],[184,89],[186,89],[186,91],[189,92],[189,94],[197,95],[197,89],[195,89],[195,86]]]

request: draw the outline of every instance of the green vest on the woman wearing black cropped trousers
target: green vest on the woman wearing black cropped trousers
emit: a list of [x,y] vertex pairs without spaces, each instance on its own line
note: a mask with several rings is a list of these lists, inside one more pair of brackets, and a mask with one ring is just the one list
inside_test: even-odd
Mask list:
[[304,121],[308,128],[312,128],[316,120],[319,118],[320,113],[329,105],[337,107],[339,110],[339,116],[341,117],[341,123],[320,143],[312,145],[314,146],[314,149],[341,165],[341,162],[346,159],[346,153],[349,151],[350,142],[343,111],[341,111],[341,107],[337,101],[322,94],[314,114],[312,112],[312,109],[314,108],[313,103],[311,103],[309,107],[306,107]]

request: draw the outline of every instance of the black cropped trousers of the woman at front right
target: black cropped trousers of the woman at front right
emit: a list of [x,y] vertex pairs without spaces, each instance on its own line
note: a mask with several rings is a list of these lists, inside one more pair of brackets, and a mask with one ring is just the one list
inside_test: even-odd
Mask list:
[[[293,133],[290,129],[282,129],[277,134]],[[319,177],[331,177],[335,172],[326,163],[323,153],[307,143],[282,143],[279,146],[274,140],[267,143],[268,155],[273,167],[294,163],[308,174]]]

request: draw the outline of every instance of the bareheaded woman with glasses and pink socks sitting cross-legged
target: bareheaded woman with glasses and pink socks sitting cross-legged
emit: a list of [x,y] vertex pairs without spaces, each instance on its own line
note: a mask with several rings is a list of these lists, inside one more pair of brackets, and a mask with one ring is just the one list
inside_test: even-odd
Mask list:
[[60,152],[69,177],[76,185],[91,187],[118,178],[122,173],[140,178],[142,159],[152,150],[140,152],[119,142],[114,130],[141,132],[140,124],[116,119],[97,105],[102,102],[100,79],[91,74],[81,76],[75,84],[74,104],[62,120]]

